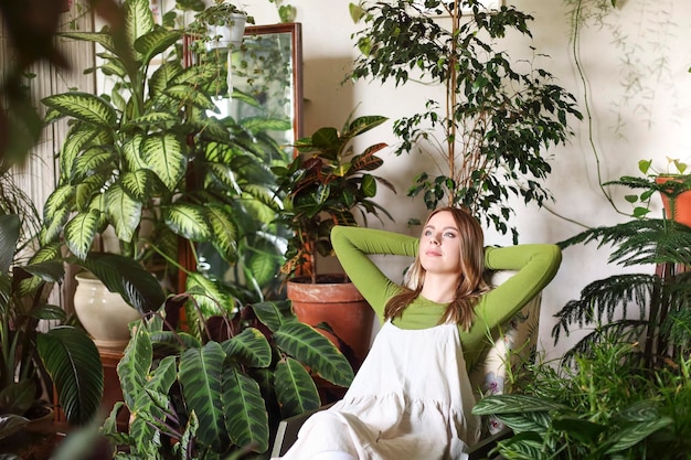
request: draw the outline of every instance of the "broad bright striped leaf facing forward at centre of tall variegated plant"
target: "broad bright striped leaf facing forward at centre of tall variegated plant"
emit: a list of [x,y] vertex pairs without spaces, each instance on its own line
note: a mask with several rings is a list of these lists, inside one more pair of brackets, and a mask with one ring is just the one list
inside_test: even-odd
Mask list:
[[172,193],[187,170],[182,141],[173,133],[152,135],[143,139],[139,149],[141,160],[159,176]]

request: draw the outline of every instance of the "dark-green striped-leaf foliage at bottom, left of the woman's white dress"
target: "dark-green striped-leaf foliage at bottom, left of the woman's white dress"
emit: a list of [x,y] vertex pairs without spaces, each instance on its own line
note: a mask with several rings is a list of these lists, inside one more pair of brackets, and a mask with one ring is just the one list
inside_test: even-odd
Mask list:
[[[265,452],[280,419],[319,407],[319,376],[348,386],[353,371],[323,335],[297,321],[290,303],[209,315],[194,299],[171,297],[145,317],[118,365],[125,404],[135,417],[118,432],[116,405],[103,434],[126,453],[147,459],[222,459]],[[187,328],[167,315],[188,312]]]

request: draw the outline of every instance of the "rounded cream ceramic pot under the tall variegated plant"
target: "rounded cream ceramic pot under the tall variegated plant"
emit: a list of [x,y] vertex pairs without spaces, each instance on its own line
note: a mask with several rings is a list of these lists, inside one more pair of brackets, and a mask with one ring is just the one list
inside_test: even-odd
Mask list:
[[129,342],[128,324],[141,318],[139,312],[93,274],[83,271],[75,279],[74,311],[86,332],[99,349],[124,350]]

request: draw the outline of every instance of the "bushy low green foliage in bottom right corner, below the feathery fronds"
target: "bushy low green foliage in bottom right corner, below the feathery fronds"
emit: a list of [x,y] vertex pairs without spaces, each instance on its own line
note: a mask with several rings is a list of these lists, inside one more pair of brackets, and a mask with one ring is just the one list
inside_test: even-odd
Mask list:
[[527,364],[513,394],[475,407],[514,436],[496,452],[506,459],[685,459],[691,413],[691,361],[651,372],[635,343],[610,334],[571,362]]

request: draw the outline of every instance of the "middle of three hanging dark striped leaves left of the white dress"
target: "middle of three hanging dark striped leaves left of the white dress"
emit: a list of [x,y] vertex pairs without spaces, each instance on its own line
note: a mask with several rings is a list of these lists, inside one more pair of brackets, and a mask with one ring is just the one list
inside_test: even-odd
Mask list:
[[[223,372],[223,405],[226,427],[236,446],[255,452],[268,449],[268,414],[259,385],[233,366]],[[200,417],[201,421],[201,417]]]

